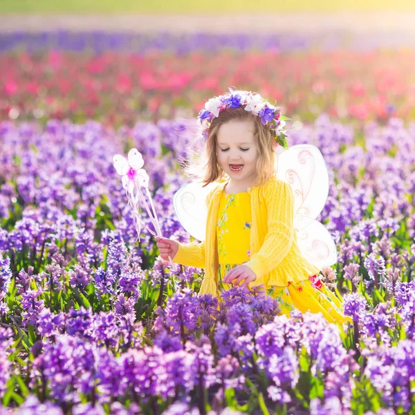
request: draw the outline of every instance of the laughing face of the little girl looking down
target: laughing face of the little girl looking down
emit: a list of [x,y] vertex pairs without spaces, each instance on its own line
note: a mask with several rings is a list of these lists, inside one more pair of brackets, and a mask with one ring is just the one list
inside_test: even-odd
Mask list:
[[216,136],[219,165],[242,187],[252,185],[257,176],[259,149],[254,131],[252,120],[232,120],[222,124]]

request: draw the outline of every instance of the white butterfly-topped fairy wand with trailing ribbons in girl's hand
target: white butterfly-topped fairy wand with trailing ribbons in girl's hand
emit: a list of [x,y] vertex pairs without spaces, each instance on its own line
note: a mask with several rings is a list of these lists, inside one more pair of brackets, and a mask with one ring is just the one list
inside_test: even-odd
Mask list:
[[[128,159],[127,159],[128,158]],[[128,203],[133,209],[133,221],[134,226],[137,232],[137,239],[140,240],[140,232],[142,228],[147,228],[147,230],[158,237],[162,237],[160,223],[158,221],[158,216],[156,214],[156,209],[154,208],[153,199],[149,192],[149,175],[143,169],[144,160],[138,149],[131,149],[128,153],[127,158],[121,154],[116,154],[113,156],[113,165],[116,169],[116,172],[122,176],[122,187],[127,194]],[[145,195],[142,192],[142,187],[145,189],[145,194],[149,199],[149,203],[145,198]],[[144,205],[151,224],[156,230],[156,234],[151,230],[140,217],[140,203]],[[136,239],[136,240],[137,240]],[[174,266],[172,258],[169,257],[170,264]]]

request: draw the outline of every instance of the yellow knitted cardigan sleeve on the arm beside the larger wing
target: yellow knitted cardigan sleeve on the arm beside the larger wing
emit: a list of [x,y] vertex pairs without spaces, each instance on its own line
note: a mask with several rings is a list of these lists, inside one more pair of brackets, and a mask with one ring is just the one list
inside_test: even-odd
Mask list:
[[257,279],[278,266],[294,240],[294,193],[291,185],[275,181],[266,190],[265,197],[268,233],[259,251],[245,264],[254,271]]

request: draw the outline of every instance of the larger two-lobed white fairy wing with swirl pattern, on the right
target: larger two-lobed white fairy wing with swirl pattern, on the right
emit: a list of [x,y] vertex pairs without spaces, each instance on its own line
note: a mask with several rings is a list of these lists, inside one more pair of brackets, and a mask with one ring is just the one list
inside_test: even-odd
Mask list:
[[329,196],[329,172],[321,151],[315,145],[294,145],[279,154],[275,168],[277,178],[293,187],[294,227],[302,255],[320,269],[335,264],[335,242],[316,220]]

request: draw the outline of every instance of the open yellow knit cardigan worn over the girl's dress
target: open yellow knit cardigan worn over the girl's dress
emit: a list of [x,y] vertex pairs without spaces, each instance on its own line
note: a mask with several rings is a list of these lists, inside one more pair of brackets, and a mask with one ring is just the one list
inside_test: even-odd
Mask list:
[[[208,219],[206,238],[201,243],[178,243],[173,258],[176,264],[205,268],[200,294],[218,296],[218,252],[216,241],[216,216],[221,192],[226,182],[218,185],[207,198]],[[320,272],[305,259],[297,246],[294,230],[294,194],[289,183],[270,178],[263,186],[248,188],[252,211],[250,230],[250,261],[248,266],[257,276],[249,286],[287,286]]]

